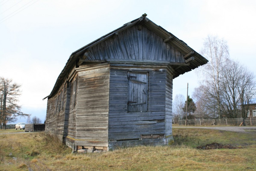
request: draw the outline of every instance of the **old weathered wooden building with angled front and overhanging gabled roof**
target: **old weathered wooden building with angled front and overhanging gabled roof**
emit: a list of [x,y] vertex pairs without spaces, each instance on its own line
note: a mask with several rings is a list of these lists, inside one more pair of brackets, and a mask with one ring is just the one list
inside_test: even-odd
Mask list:
[[74,150],[171,144],[173,79],[206,63],[143,14],[70,55],[45,131]]

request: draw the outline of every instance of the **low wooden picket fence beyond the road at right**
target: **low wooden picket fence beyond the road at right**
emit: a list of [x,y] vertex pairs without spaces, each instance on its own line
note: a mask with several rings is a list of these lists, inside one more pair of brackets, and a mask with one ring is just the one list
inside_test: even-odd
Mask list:
[[[188,119],[188,125],[192,126],[210,126],[210,125],[230,125],[240,126],[241,123],[245,126],[256,126],[256,117],[248,117],[243,121],[243,118],[223,118],[223,119]],[[186,120],[179,120],[179,125],[185,125]]]

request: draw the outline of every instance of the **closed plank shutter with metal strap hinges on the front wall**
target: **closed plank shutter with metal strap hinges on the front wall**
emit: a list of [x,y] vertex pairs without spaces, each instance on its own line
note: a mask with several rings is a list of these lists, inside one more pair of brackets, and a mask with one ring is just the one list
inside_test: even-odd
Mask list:
[[128,72],[128,112],[148,110],[148,73]]

